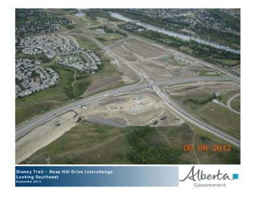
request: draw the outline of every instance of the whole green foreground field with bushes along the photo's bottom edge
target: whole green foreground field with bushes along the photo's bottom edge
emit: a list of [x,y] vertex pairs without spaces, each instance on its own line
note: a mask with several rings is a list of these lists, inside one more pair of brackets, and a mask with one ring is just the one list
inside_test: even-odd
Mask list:
[[[194,152],[183,150],[193,138],[196,145],[226,144],[198,130],[187,123],[121,129],[81,121],[22,164],[197,164]],[[240,164],[240,150],[235,147],[228,154],[209,151],[197,155],[201,164]]]

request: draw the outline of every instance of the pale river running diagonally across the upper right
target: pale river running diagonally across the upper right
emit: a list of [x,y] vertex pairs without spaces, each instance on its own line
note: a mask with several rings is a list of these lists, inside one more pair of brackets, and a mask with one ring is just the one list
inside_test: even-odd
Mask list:
[[165,30],[164,28],[158,28],[156,26],[152,26],[152,25],[146,24],[144,22],[139,22],[137,20],[133,20],[131,18],[128,18],[128,17],[123,16],[122,14],[119,14],[119,13],[116,13],[116,12],[110,12],[110,16],[112,16],[113,18],[117,18],[119,20],[123,20],[125,22],[131,22],[131,23],[137,24],[138,26],[143,26],[143,28],[146,28],[148,30],[164,33],[166,35],[170,35],[170,36],[174,36],[174,37],[179,37],[180,39],[183,39],[185,41],[189,41],[191,39],[193,41],[196,41],[197,43],[208,45],[208,46],[214,47],[216,49],[220,49],[220,50],[223,50],[223,51],[229,51],[229,52],[232,52],[232,53],[240,54],[239,49],[232,49],[231,47],[220,45],[220,44],[214,43],[212,41],[207,41],[207,40],[204,40],[204,39],[200,39],[198,37],[193,37],[193,36],[190,36],[190,35],[184,35],[182,33],[172,32],[170,30]]

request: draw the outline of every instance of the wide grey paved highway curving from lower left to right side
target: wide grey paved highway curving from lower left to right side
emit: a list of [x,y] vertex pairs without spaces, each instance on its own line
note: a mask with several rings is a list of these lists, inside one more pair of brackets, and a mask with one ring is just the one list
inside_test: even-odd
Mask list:
[[82,104],[88,104],[92,102],[98,102],[100,100],[106,99],[106,95],[114,96],[120,93],[128,93],[131,91],[135,91],[138,89],[143,89],[145,87],[152,87],[156,85],[175,85],[180,83],[191,83],[195,81],[230,81],[232,80],[231,77],[182,77],[182,78],[173,78],[171,80],[164,80],[164,81],[158,81],[153,83],[146,83],[146,84],[139,84],[139,85],[127,85],[124,87],[120,87],[118,89],[113,89],[111,91],[105,91],[103,93],[99,93],[97,95],[93,95],[91,97],[86,97],[84,99],[77,100],[75,102],[72,102],[70,104],[67,104],[65,106],[61,106],[60,108],[57,108],[55,110],[52,110],[51,112],[48,112],[47,114],[44,114],[42,116],[38,116],[36,118],[32,118],[32,120],[26,121],[22,123],[22,125],[18,125],[16,127],[16,139],[19,139],[28,131],[31,131],[35,127],[38,127],[39,125],[42,125],[49,120],[52,120],[56,116],[59,116],[60,114],[63,114],[65,112],[68,112],[69,110],[72,110],[76,106],[80,106]]

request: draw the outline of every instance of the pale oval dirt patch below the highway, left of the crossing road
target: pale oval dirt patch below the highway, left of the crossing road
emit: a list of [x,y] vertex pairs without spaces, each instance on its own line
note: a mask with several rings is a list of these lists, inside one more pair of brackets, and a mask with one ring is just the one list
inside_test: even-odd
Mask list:
[[[162,116],[166,116],[162,122],[165,125],[177,123],[177,120],[181,121],[164,110],[161,102],[148,95],[114,97],[98,104],[90,104],[86,106],[86,109],[78,107],[75,111],[85,120],[104,119],[104,121],[109,121],[110,125],[114,125],[116,118],[124,120],[125,125],[154,125],[155,122],[160,122]],[[120,121],[116,123],[119,125]]]

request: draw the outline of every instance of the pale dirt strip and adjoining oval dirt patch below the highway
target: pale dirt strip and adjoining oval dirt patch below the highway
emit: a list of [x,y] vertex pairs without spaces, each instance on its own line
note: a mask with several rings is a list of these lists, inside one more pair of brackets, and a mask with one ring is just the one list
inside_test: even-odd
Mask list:
[[32,130],[16,142],[16,162],[22,162],[40,148],[55,141],[80,121],[111,125],[113,127],[151,125],[167,126],[184,123],[152,96],[131,94],[113,97],[93,104],[81,104]]

